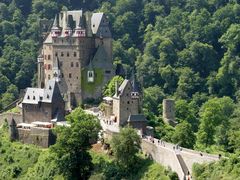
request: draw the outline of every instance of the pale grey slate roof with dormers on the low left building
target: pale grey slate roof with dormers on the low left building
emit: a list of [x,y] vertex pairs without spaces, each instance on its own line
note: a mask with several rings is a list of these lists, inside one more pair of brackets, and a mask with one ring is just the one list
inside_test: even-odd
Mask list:
[[39,102],[51,103],[53,93],[57,82],[49,80],[45,89],[41,88],[27,88],[23,98],[23,104],[38,104]]

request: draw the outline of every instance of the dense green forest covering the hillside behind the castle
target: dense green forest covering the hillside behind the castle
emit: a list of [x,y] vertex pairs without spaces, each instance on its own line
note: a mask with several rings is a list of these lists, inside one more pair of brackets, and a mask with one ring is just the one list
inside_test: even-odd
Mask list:
[[[36,85],[39,22],[66,9],[107,14],[114,64],[128,77],[136,73],[156,137],[230,157],[239,153],[239,0],[2,0],[0,110]],[[163,123],[164,98],[175,99],[175,128]],[[207,177],[209,168],[219,174],[224,168],[218,166],[238,163],[225,161],[196,170]]]

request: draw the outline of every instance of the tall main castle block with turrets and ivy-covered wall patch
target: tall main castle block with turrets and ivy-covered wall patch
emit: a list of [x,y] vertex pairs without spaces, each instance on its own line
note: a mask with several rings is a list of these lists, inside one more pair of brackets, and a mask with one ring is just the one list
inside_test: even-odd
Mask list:
[[106,15],[82,10],[56,15],[38,57],[38,87],[55,79],[70,110],[84,100],[100,98],[114,75]]

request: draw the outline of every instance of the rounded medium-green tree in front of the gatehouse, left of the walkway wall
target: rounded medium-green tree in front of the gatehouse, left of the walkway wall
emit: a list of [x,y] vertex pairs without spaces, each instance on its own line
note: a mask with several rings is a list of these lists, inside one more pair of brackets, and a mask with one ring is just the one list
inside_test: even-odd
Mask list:
[[110,142],[117,163],[129,171],[134,167],[140,149],[140,137],[131,127],[122,128],[119,134],[113,135]]

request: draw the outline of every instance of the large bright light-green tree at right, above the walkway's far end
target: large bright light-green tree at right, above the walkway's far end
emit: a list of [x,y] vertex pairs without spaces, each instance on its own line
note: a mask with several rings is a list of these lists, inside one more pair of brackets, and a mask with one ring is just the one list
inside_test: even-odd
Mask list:
[[197,147],[207,147],[210,145],[227,146],[227,132],[219,131],[218,128],[228,129],[228,118],[234,110],[233,100],[229,97],[213,98],[204,103],[200,110],[200,126],[197,132]]

